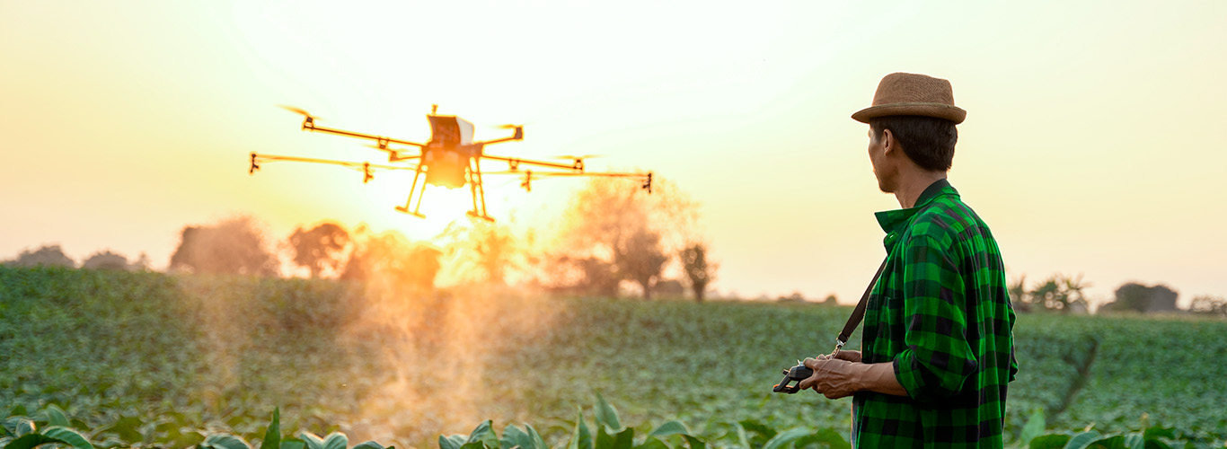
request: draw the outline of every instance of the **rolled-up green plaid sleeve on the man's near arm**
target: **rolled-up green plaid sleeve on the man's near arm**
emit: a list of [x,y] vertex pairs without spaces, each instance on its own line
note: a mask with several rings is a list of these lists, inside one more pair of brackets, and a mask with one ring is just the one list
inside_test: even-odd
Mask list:
[[958,266],[930,236],[906,242],[901,260],[906,347],[893,359],[894,377],[914,400],[953,396],[977,369]]

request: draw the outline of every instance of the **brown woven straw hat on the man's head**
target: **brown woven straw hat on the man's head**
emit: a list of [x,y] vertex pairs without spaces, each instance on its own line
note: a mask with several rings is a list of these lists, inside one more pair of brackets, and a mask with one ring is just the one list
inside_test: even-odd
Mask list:
[[869,119],[885,115],[936,117],[957,125],[967,118],[967,110],[955,106],[950,81],[899,72],[883,76],[874,92],[874,106],[858,110],[852,118],[869,123]]

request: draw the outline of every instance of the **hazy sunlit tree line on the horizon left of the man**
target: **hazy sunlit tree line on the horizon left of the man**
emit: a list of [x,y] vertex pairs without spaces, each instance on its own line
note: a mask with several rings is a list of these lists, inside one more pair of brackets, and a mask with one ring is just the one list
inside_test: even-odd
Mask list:
[[[546,236],[517,236],[509,227],[456,221],[433,242],[400,232],[346,229],[333,222],[299,226],[283,239],[266,238],[250,217],[185,226],[168,271],[245,276],[309,276],[391,281],[432,291],[442,271],[471,283],[520,285],[566,294],[703,301],[718,264],[696,232],[696,205],[667,180],[652,195],[615,179],[593,179],[572,198]],[[536,244],[545,242],[546,244]],[[77,267],[59,245],[21,253],[6,264]],[[99,251],[82,269],[148,270],[146,255],[129,263]]]

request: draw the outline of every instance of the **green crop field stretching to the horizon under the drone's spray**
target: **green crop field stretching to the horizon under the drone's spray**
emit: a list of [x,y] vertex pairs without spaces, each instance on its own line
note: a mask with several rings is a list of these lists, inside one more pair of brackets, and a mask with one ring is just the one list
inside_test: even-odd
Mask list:
[[[0,447],[847,447],[850,400],[771,385],[848,313],[0,266]],[[1028,314],[1015,336],[1007,442],[1223,447],[1227,321]]]

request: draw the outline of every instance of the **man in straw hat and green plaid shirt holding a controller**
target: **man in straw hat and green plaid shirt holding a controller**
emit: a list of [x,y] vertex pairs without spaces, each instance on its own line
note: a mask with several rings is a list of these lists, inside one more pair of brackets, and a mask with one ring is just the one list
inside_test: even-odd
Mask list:
[[806,358],[800,386],[853,396],[858,448],[1000,448],[1015,314],[988,226],[946,180],[967,112],[950,82],[882,79],[869,159],[902,209],[877,212],[886,265],[865,308],[861,351]]

